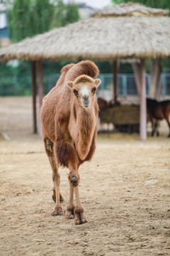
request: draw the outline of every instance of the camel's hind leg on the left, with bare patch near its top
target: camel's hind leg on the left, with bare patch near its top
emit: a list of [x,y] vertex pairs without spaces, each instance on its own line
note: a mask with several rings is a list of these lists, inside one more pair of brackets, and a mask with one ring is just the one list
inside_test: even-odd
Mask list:
[[55,161],[54,143],[51,142],[50,139],[45,139],[45,151],[52,167],[52,181],[54,183],[52,198],[57,203],[52,215],[63,215],[64,213],[62,211],[62,207],[60,206],[60,201],[63,201],[62,195],[60,194],[60,174]]

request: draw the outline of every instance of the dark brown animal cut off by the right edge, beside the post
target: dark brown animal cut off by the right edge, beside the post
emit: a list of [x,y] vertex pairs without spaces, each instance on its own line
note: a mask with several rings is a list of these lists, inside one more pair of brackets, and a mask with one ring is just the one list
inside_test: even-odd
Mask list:
[[157,102],[157,100],[147,99],[147,112],[152,123],[152,136],[154,136],[155,132],[157,133],[157,136],[159,136],[158,122],[159,120],[166,119],[166,122],[169,126],[168,137],[170,137],[170,100]]

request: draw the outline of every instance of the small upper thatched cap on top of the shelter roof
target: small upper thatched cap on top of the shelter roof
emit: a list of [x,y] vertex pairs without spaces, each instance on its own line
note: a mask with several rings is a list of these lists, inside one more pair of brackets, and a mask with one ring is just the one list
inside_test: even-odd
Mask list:
[[138,3],[118,4],[101,11],[97,11],[91,16],[106,17],[106,16],[164,16],[169,13],[169,10],[155,9],[144,6]]

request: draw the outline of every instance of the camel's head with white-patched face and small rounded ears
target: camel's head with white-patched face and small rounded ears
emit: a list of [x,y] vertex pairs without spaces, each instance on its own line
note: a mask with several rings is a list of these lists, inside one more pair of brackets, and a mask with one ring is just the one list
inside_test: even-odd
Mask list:
[[96,90],[100,85],[100,79],[93,79],[88,75],[80,75],[74,82],[69,81],[67,85],[74,92],[74,95],[79,102],[79,105],[84,108],[91,107],[91,104],[96,99]]

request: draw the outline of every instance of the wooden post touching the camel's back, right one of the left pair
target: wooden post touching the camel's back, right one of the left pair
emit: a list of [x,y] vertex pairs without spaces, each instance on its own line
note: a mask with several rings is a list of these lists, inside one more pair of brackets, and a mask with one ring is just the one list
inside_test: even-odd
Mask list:
[[[43,63],[42,60],[38,61],[38,94],[39,94],[39,105],[42,106],[42,99],[44,97],[44,85],[43,85]],[[42,137],[40,114],[39,114],[39,130],[38,134]]]

